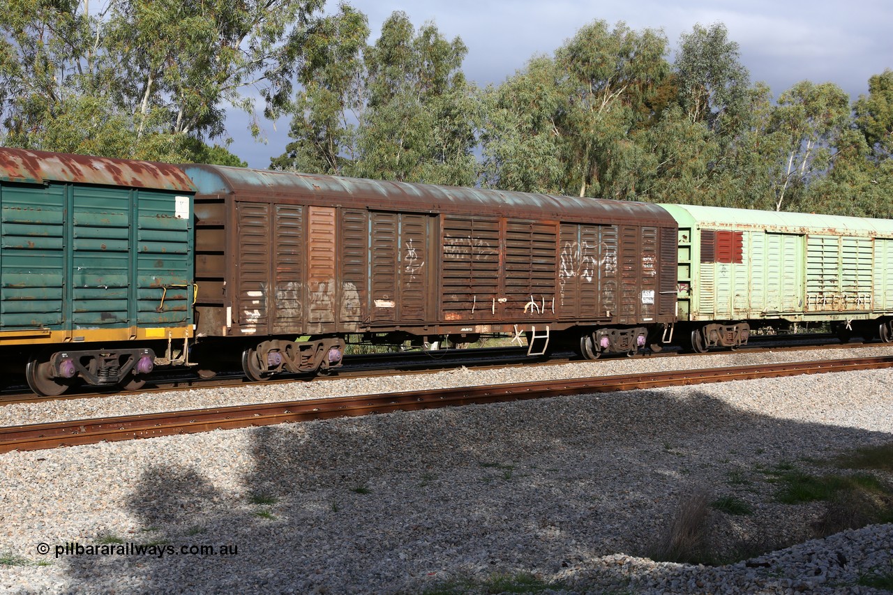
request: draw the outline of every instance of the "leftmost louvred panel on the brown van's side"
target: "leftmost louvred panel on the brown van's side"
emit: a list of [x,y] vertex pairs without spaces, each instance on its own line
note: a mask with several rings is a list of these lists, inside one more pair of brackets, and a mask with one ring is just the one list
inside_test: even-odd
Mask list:
[[270,272],[270,205],[239,202],[238,312],[233,318],[244,329],[265,327],[267,279]]

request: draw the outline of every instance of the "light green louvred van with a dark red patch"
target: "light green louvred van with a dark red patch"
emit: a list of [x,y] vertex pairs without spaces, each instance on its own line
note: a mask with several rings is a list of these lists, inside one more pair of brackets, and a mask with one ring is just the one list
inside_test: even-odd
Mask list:
[[893,339],[893,221],[661,206],[679,223],[676,330],[696,350],[799,322]]

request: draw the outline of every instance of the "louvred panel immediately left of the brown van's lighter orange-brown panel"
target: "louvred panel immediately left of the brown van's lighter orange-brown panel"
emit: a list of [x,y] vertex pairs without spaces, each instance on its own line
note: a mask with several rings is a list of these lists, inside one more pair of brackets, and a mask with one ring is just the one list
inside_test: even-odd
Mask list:
[[304,207],[276,205],[273,332],[303,332]]

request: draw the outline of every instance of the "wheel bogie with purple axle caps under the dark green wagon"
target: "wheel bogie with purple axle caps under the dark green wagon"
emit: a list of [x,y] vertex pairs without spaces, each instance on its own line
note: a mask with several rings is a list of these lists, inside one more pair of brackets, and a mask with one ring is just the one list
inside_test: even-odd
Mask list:
[[41,397],[57,397],[76,381],[93,386],[120,385],[138,390],[154,370],[155,355],[149,348],[57,351],[33,356],[25,368],[28,385]]

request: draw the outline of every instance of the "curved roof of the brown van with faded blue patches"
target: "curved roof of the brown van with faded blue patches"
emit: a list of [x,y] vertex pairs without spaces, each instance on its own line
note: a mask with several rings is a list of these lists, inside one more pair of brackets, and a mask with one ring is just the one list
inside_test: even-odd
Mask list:
[[181,167],[195,183],[198,194],[205,196],[235,195],[239,198],[261,200],[313,197],[332,205],[350,205],[359,201],[362,205],[383,209],[511,214],[513,217],[530,219],[572,218],[675,227],[672,216],[660,206],[631,201],[362,180],[221,165],[189,164]]

